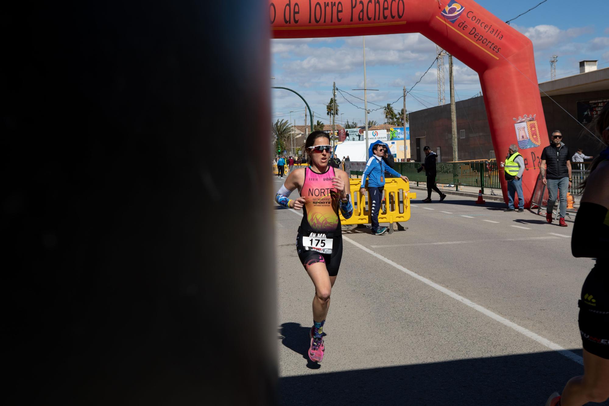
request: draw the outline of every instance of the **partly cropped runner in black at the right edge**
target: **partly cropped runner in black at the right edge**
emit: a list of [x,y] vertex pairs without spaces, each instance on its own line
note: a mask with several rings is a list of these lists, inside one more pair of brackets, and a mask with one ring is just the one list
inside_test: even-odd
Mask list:
[[[609,104],[597,117],[596,130],[609,144]],[[579,301],[583,376],[571,378],[562,395],[553,393],[546,406],[581,406],[609,399],[609,148],[590,166],[571,237],[575,257],[596,258]]]

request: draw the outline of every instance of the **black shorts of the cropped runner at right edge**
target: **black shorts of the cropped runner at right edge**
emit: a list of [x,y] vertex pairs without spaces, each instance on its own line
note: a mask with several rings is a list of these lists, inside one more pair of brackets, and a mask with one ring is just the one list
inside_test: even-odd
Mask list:
[[609,269],[599,262],[582,287],[579,301],[579,331],[583,348],[609,360]]

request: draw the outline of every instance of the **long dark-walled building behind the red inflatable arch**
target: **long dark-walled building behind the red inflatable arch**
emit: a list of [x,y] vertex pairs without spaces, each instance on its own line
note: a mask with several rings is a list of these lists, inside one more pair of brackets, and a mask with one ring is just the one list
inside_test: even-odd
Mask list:
[[[583,148],[584,154],[596,156],[606,147],[583,126],[594,132],[591,119],[609,102],[609,68],[596,69],[596,61],[582,61],[580,72],[541,83],[541,104],[549,132],[560,130],[573,153]],[[456,113],[460,161],[495,155],[501,160],[507,154],[493,149],[482,96],[456,102]],[[420,162],[423,146],[429,145],[441,162],[453,160],[450,104],[412,112],[409,121],[412,159]]]

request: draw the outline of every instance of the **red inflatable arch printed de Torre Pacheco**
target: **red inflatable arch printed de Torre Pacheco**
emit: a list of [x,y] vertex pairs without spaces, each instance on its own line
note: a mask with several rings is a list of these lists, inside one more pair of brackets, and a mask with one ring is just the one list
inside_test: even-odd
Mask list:
[[[529,38],[471,0],[274,0],[273,38],[348,37],[420,32],[480,77],[493,147],[505,160],[518,144],[527,172],[525,206],[549,144]],[[507,185],[500,173],[507,202]]]

